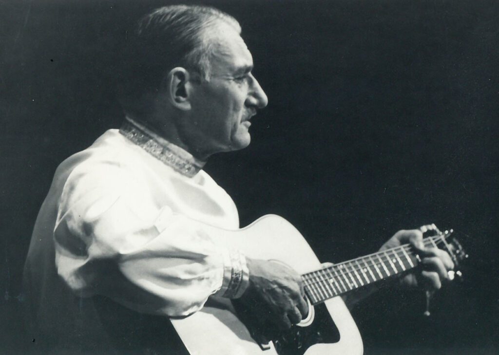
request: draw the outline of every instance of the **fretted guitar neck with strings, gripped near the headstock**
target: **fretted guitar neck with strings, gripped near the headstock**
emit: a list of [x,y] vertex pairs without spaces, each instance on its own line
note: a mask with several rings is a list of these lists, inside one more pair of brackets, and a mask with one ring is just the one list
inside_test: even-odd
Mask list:
[[[444,244],[437,235],[423,240],[425,247]],[[392,278],[418,266],[419,256],[409,244],[379,251],[302,275],[305,293],[313,305],[375,282]]]

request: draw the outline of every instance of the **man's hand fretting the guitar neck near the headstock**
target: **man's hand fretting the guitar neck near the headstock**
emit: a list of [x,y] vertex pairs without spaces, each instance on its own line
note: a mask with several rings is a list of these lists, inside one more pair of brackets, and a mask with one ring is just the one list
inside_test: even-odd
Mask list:
[[421,258],[422,271],[416,271],[401,280],[402,286],[421,286],[428,291],[436,291],[442,282],[449,280],[448,271],[454,269],[454,263],[447,252],[439,248],[427,248],[423,244],[423,232],[435,229],[435,225],[425,225],[420,229],[399,230],[391,237],[380,251],[410,243]]

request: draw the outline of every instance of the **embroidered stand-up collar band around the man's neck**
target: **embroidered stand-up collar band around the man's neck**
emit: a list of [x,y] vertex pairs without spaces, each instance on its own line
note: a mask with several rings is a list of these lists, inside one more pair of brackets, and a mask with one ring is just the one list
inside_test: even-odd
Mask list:
[[130,117],[125,117],[120,133],[154,158],[189,178],[198,174],[206,164],[206,162],[194,158],[184,149],[161,138]]

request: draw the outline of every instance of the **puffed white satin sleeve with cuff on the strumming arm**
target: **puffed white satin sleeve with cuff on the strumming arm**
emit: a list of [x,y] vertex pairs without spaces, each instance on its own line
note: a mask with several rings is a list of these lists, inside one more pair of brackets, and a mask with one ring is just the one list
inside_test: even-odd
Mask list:
[[210,295],[242,295],[246,259],[216,228],[156,206],[119,166],[69,175],[54,229],[59,276],[80,297],[104,295],[138,312],[186,316]]

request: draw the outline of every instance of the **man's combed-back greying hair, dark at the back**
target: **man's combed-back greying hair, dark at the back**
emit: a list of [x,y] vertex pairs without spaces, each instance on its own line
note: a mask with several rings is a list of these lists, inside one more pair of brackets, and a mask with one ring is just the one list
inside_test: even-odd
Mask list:
[[118,93],[124,111],[147,115],[151,97],[161,91],[165,76],[177,66],[208,80],[212,43],[207,35],[221,22],[241,33],[234,17],[209,6],[170,5],[143,16],[123,55]]

